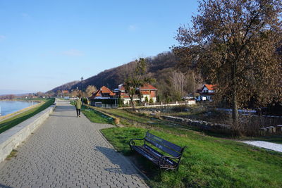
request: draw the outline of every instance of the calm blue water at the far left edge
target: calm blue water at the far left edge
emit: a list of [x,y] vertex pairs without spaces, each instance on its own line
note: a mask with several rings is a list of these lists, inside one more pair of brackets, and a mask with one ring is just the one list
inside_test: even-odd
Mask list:
[[0,101],[1,115],[7,115],[9,113],[14,113],[20,109],[26,108],[37,104],[37,102],[27,102],[27,101]]

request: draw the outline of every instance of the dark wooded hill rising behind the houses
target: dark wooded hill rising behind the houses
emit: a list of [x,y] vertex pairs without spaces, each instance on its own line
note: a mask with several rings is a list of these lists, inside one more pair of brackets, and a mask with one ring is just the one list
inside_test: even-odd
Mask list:
[[[152,77],[156,80],[156,82],[152,84],[158,88],[158,94],[162,94],[164,96],[171,96],[170,78],[172,72],[176,70],[176,58],[173,53],[168,51],[146,59],[148,64],[147,74],[149,77]],[[110,89],[117,88],[118,84],[123,83],[126,77],[125,70],[130,65],[130,63],[126,63],[124,65],[118,66],[116,68],[111,68],[109,70],[104,70],[98,75],[94,75],[93,77],[83,80],[83,90],[85,90],[88,85],[94,85],[97,88],[102,87],[103,85],[109,87]],[[76,89],[77,87],[81,88],[81,82],[71,83],[73,84],[63,84],[62,86],[56,87],[51,91],[56,92],[59,89],[71,90]]]

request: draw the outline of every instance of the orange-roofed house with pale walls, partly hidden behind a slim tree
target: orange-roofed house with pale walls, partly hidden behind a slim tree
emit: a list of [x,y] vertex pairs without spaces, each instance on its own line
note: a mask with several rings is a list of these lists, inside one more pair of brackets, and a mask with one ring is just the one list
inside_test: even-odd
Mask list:
[[[151,84],[144,84],[142,87],[136,89],[137,92],[140,92],[141,95],[141,102],[145,102],[146,99],[152,101],[155,103],[157,101],[157,88],[152,86]],[[123,84],[119,84],[117,89],[114,89],[114,93],[116,94],[116,97],[121,97],[121,101],[123,101],[123,104],[130,104],[130,97],[125,92],[125,87]],[[139,96],[136,94],[133,96],[133,101],[140,101]]]

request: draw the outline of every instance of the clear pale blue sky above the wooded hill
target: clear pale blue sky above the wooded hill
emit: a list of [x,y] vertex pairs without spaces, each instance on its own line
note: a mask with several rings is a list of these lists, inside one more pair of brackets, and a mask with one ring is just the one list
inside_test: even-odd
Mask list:
[[196,0],[0,0],[0,94],[47,92],[178,44]]

